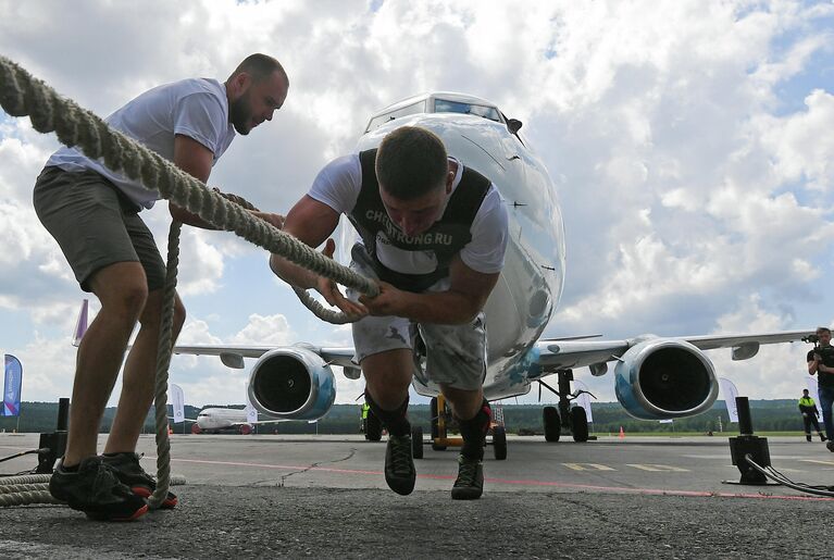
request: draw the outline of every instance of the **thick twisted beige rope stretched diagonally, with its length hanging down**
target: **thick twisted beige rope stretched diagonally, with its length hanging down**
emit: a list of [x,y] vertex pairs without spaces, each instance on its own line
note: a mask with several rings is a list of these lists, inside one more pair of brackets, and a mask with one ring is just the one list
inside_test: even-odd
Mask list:
[[[200,181],[141,144],[113,130],[104,121],[74,101],[60,97],[42,80],[35,79],[20,65],[4,57],[0,57],[0,105],[12,116],[29,115],[36,130],[40,133],[54,130],[58,139],[65,146],[80,148],[88,158],[103,159],[109,169],[122,171],[129,178],[158,190],[162,198],[186,208],[215,227],[235,232],[244,239],[277,253],[294,264],[360,293],[372,297],[378,294],[378,288],[373,281],[341,266],[292,236],[253,216],[237,203],[238,201],[228,201],[221,194],[209,190]],[[179,228],[181,224],[174,222],[169,236],[169,272],[157,354],[154,409],[158,482],[157,490],[149,499],[152,508],[158,508],[164,500],[171,473],[171,445],[167,437],[167,369],[173,350],[171,332]],[[350,321],[344,313],[325,309],[306,291],[301,291],[302,294],[296,290],[299,298],[321,319],[334,323]],[[39,493],[23,494],[33,500],[42,499]],[[26,503],[26,501],[20,503]]]

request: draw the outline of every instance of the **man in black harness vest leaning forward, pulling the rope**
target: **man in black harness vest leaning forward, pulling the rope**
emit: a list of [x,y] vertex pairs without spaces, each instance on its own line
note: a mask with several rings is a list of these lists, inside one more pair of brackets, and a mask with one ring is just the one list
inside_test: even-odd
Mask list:
[[[287,214],[284,231],[333,256],[328,239],[346,214],[362,237],[351,267],[377,279],[375,298],[347,297],[328,279],[277,254],[272,270],[328,303],[361,318],[353,323],[365,399],[388,430],[385,480],[407,495],[416,477],[407,418],[412,375],[437,383],[457,416],[463,448],[453,499],[483,493],[483,455],[491,411],[484,399],[483,307],[503,266],[507,210],[491,182],[449,158],[432,132],[402,126],[377,150],[339,158]],[[420,358],[425,370],[415,366]],[[420,356],[415,356],[415,353]],[[416,360],[415,360],[416,358]]]

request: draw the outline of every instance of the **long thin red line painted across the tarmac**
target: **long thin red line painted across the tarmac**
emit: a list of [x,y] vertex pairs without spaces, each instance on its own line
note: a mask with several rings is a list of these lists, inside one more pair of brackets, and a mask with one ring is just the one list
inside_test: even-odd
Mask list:
[[[145,456],[146,459],[155,460],[155,457]],[[340,474],[369,474],[382,476],[382,471],[365,471],[360,469],[333,469],[331,466],[309,466],[309,465],[288,465],[288,464],[266,464],[266,463],[245,463],[239,461],[209,461],[204,459],[171,459],[172,462],[199,463],[199,464],[223,464],[227,466],[256,466],[260,469],[276,469],[290,471],[320,471]],[[453,481],[456,476],[447,474],[418,474],[418,478],[434,481]],[[709,490],[675,490],[662,488],[630,488],[627,486],[599,486],[593,484],[572,484],[551,481],[532,481],[525,478],[491,478],[485,477],[485,481],[493,484],[506,484],[509,486],[546,486],[551,488],[572,488],[580,490],[598,490],[601,493],[624,493],[643,494],[648,496],[677,496],[685,498],[757,498],[772,500],[799,500],[799,501],[834,501],[834,498],[822,496],[776,496],[772,494],[733,494],[729,491],[709,491]]]

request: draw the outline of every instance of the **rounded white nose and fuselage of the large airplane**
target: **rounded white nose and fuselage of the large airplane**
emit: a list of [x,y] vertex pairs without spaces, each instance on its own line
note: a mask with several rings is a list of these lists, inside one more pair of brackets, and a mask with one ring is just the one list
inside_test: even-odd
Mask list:
[[[486,108],[487,114],[497,120],[433,112],[440,107],[438,101],[447,100],[457,105]],[[559,303],[564,282],[564,232],[555,185],[539,159],[510,132],[507,120],[488,101],[459,94],[433,94],[411,98],[387,111],[396,114],[402,111],[403,103],[416,103],[418,108],[423,103],[423,112],[374,126],[375,119],[384,119],[383,110],[372,119],[372,129],[360,138],[358,151],[377,147],[399,126],[421,126],[437,134],[451,157],[496,185],[508,209],[510,237],[503,271],[485,308],[488,369],[484,393],[489,400],[526,394],[528,377],[538,368],[534,344]],[[348,254],[344,246],[353,237],[343,235],[341,239],[341,253]],[[434,384],[415,382],[414,388],[425,396],[439,393]]]

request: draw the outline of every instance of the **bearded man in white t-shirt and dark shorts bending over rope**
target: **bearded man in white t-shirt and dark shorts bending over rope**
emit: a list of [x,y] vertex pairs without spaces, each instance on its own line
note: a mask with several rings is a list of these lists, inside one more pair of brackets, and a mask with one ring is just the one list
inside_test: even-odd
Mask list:
[[[247,135],[284,104],[289,80],[277,60],[246,58],[225,83],[195,78],[153,88],[107,117],[113,128],[144,144],[206,183],[235,132]],[[133,520],[148,509],[153,477],[139,465],[136,444],[153,400],[157,345],[165,264],[138,212],[159,199],[153,185],[111,171],[74,148],[53,153],[37,179],[35,211],[61,246],[75,277],[92,291],[101,311],[78,348],[66,452],[50,480],[50,493],[88,517]],[[173,203],[184,224],[213,228]],[[278,214],[253,212],[281,227]],[[185,308],[175,298],[173,336]],[[127,341],[122,394],[103,456],[97,456],[101,416]],[[173,508],[169,494],[163,508]]]

